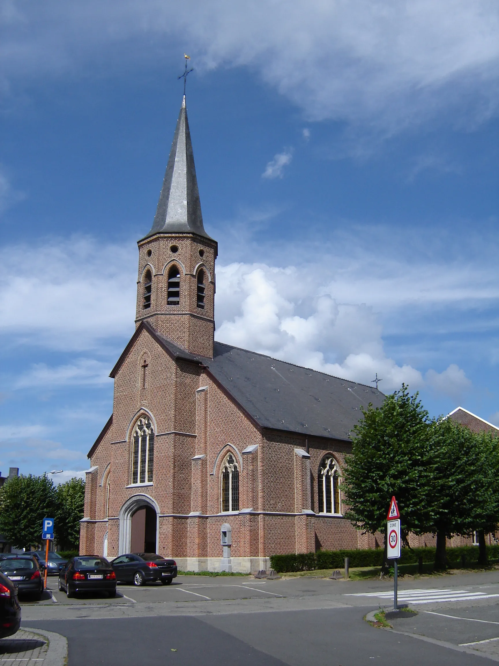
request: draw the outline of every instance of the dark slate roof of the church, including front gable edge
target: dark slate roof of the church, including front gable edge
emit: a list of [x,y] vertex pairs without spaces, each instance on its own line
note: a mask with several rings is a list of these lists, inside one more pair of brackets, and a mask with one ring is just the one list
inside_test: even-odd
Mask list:
[[[116,376],[142,330],[146,330],[173,359],[206,368],[260,428],[303,435],[351,440],[361,407],[383,404],[385,396],[372,386],[301,368],[270,356],[222,342],[214,343],[214,358],[190,354],[142,322],[110,373]],[[104,431],[103,431],[104,432]]]

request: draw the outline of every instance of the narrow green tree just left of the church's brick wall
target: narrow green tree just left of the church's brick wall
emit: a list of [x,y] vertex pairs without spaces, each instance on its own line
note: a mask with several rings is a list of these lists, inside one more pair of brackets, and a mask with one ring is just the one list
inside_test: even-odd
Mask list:
[[73,478],[57,486],[55,511],[55,536],[64,549],[78,549],[80,521],[83,518],[85,482]]

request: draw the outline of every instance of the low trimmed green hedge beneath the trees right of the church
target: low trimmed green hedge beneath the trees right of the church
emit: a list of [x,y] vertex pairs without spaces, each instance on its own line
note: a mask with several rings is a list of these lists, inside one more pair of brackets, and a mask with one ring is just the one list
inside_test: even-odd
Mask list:
[[[458,548],[447,548],[447,560],[450,566],[462,565],[462,556],[466,564],[478,561],[477,546],[461,546]],[[499,560],[499,545],[488,545],[487,556],[490,561]],[[315,571],[315,569],[343,569],[345,557],[349,557],[351,567],[381,567],[383,564],[383,549],[365,550],[319,550],[317,553],[289,553],[289,555],[271,555],[270,565],[278,573],[289,573],[291,571]],[[434,562],[435,549],[426,548],[403,548],[401,551],[401,564],[416,564],[418,558],[423,562]]]

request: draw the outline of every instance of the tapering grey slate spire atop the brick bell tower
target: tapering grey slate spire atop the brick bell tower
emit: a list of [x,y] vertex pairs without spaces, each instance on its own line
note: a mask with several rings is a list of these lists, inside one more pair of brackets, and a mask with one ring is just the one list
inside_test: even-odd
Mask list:
[[147,236],[161,232],[194,233],[210,238],[203,226],[185,95],[164,174],[158,208]]

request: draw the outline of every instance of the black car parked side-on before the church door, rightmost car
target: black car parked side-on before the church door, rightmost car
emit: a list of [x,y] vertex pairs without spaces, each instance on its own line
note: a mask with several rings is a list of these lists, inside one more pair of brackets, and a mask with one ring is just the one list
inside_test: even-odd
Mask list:
[[123,583],[144,585],[149,581],[161,581],[170,585],[177,575],[177,563],[156,553],[127,553],[111,561],[116,580]]

